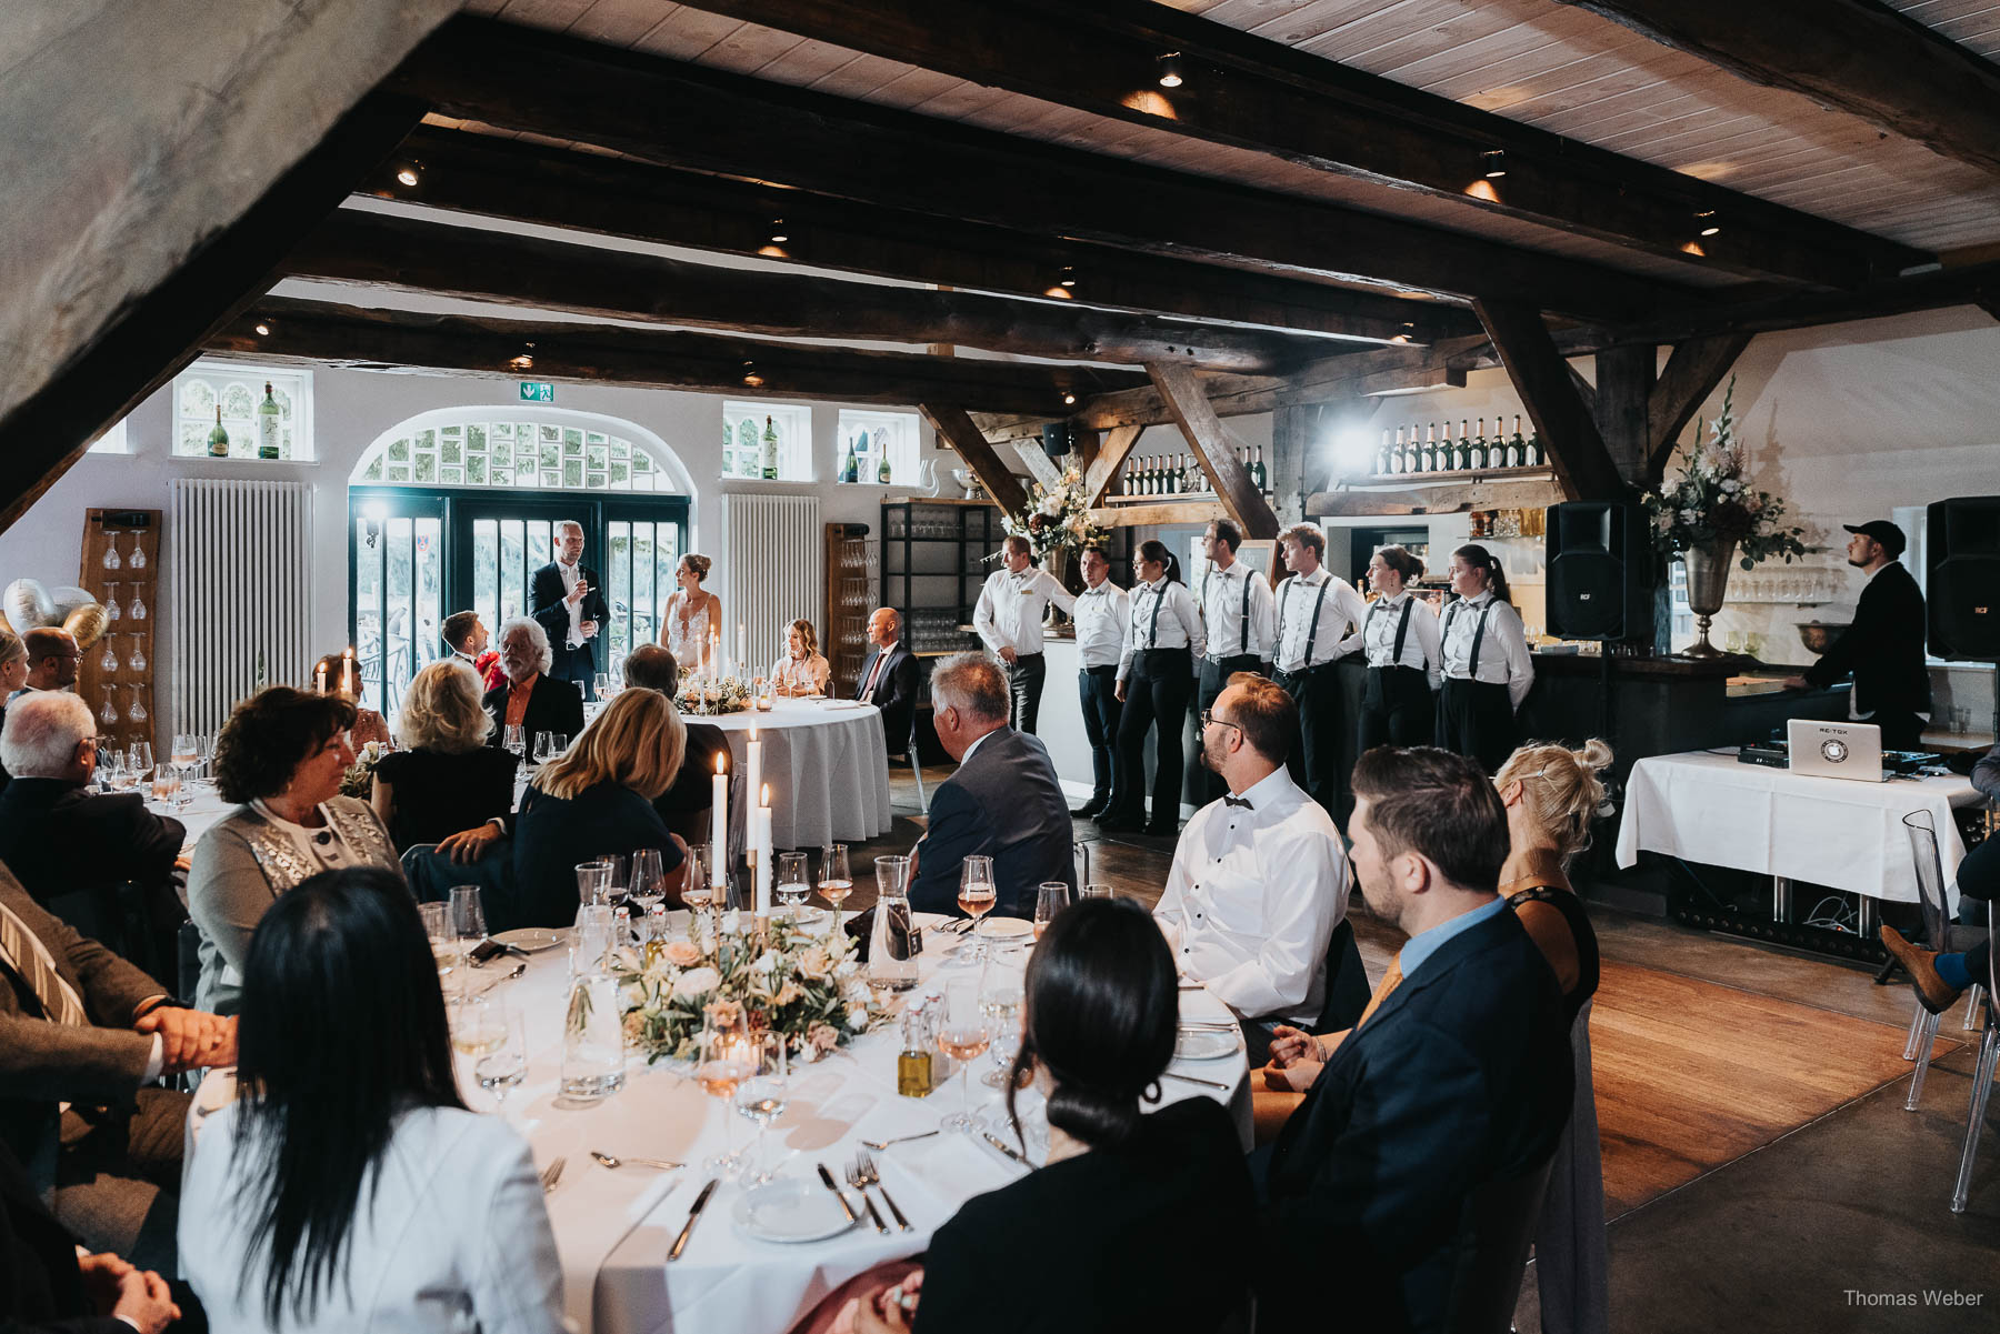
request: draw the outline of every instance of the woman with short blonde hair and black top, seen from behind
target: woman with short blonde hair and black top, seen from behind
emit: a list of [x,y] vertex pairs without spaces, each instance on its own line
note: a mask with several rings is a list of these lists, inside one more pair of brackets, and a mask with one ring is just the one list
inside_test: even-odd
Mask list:
[[370,792],[398,854],[514,808],[520,756],[486,744],[494,720],[482,700],[478,672],[460,658],[432,662],[410,680],[398,720],[406,750],[376,762]]

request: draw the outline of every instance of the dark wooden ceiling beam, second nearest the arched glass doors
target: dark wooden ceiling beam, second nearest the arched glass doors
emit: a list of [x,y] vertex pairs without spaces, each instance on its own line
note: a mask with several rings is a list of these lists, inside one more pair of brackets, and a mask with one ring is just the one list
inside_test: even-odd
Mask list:
[[1324,348],[1320,340],[1052,300],[690,264],[352,208],[306,236],[284,272],[606,320],[766,338],[956,344],[1074,362],[1186,360],[1268,374]]

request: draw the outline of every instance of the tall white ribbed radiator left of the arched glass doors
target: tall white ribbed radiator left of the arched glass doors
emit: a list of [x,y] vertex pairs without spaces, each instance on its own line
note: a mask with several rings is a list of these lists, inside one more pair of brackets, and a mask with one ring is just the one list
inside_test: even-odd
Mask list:
[[166,524],[174,732],[216,732],[258,686],[312,670],[312,488],[176,478]]

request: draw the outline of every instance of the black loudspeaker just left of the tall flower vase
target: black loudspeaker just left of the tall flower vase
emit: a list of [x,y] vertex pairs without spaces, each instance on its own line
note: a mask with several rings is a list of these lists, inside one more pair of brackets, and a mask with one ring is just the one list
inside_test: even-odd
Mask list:
[[1548,506],[1548,632],[1562,640],[1652,636],[1646,512],[1622,500]]

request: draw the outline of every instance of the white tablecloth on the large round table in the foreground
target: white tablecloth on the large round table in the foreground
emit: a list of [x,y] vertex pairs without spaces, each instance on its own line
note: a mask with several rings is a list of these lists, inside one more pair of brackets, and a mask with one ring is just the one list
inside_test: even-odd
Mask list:
[[[676,930],[684,914],[674,914]],[[928,926],[942,918],[918,920]],[[954,944],[950,934],[926,932],[930,948],[922,956],[916,994],[942,988],[954,974],[976,976],[966,968],[940,968],[944,952]],[[1022,964],[1024,958],[1016,952],[1010,966]],[[562,1254],[570,1316],[584,1334],[778,1334],[848,1278],[880,1260],[924,1250],[930,1234],[960,1204],[1024,1172],[976,1136],[932,1136],[892,1146],[876,1154],[876,1164],[914,1230],[896,1230],[888,1210],[882,1210],[892,1228],[888,1236],[878,1236],[864,1214],[862,1226],[812,1244],[746,1236],[732,1216],[742,1188],[722,1182],[686,1252],[666,1264],[666,1250],[708,1180],[700,1162],[722,1150],[724,1134],[744,1146],[754,1128],[722,1102],[704,1098],[700,1086],[670,1066],[634,1064],[624,1092],[588,1110],[558,1110],[554,1096],[566,968],[566,952],[548,950],[534,956],[526,976],[502,984],[496,994],[506,994],[508,1004],[526,1016],[530,1052],[528,1080],[506,1100],[504,1114],[534,1144],[538,1168],[556,1156],[566,1158],[562,1182],[548,1196],[548,1212]],[[1180,1004],[1188,1018],[1228,1018],[1222,1002],[1206,992],[1182,992]],[[930,1098],[898,1096],[898,1048],[892,1024],[820,1064],[794,1066],[790,1106],[766,1140],[766,1154],[772,1162],[782,1158],[784,1176],[816,1182],[814,1164],[824,1162],[838,1172],[854,1156],[862,1136],[886,1140],[932,1130],[942,1116],[960,1108],[956,1074]],[[464,1064],[460,1058],[460,1084],[470,1104],[474,1110],[492,1110],[492,1098],[478,1090]],[[978,1082],[986,1068],[986,1058],[972,1068],[972,1100],[982,1110],[1000,1098]],[[1250,1084],[1242,1052],[1234,1058],[1176,1062],[1174,1068],[1230,1086],[1220,1092],[1180,1080],[1162,1082],[1168,1100],[1202,1094],[1224,1100],[1248,1146]],[[670,1158],[688,1168],[614,1172],[592,1162],[590,1150]],[[882,1208],[880,1202],[876,1208]],[[1050,1222],[1060,1226],[1060,1220]]]

